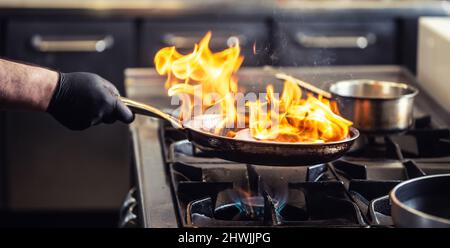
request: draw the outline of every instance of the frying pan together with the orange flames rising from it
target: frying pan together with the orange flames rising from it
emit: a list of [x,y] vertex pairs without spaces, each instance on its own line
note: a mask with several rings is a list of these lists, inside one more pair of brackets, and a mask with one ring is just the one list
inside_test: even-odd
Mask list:
[[341,157],[359,136],[336,104],[322,96],[302,98],[298,85],[285,81],[280,97],[271,85],[265,94],[243,94],[236,72],[242,64],[239,44],[213,53],[211,33],[187,55],[175,47],[155,56],[167,75],[169,96],[181,99],[179,117],[122,98],[132,111],[169,121],[199,149],[216,157],[258,165],[312,165]]

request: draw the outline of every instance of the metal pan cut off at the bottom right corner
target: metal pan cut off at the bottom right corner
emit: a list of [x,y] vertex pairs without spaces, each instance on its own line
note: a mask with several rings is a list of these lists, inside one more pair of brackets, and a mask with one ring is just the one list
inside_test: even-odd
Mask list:
[[391,216],[399,227],[450,227],[450,174],[404,181],[390,192]]

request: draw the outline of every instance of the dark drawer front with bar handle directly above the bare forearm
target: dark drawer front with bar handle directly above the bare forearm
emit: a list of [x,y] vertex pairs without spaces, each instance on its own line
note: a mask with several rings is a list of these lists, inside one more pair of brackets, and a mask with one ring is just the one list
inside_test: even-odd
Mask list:
[[123,92],[133,65],[132,22],[27,22],[7,25],[6,56],[61,71],[94,72]]

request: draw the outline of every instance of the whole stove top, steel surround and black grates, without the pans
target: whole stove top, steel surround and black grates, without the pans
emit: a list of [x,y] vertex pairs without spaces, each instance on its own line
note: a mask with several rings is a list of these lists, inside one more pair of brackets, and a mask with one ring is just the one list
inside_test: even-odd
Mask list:
[[[349,78],[420,88],[409,72],[395,66],[281,70],[323,88]],[[242,69],[240,85],[258,91],[274,82],[270,73]],[[170,107],[164,79],[153,69],[130,69],[126,76],[129,97]],[[215,158],[169,124],[138,116],[131,128],[137,211],[128,212],[135,217],[133,223],[144,227],[391,227],[387,194],[396,184],[450,173],[449,120],[450,115],[421,91],[415,126],[406,133],[362,136],[349,153],[327,164],[292,161],[299,166],[269,167]]]

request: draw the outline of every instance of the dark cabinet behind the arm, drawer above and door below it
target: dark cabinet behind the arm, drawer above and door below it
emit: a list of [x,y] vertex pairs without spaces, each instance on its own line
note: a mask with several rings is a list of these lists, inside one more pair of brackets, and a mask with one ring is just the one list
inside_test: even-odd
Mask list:
[[[8,22],[6,56],[61,71],[89,71],[123,92],[134,63],[128,21]],[[129,189],[123,124],[70,131],[43,113],[8,112],[8,200],[13,209],[113,209]]]

